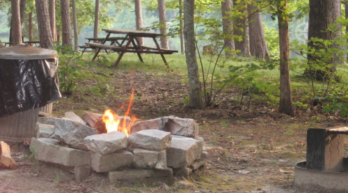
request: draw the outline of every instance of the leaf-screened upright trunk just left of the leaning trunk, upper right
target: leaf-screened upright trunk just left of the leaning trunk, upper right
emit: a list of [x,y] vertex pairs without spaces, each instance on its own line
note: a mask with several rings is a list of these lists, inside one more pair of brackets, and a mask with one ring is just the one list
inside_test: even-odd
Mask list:
[[235,40],[235,49],[239,50],[242,56],[250,56],[248,26],[246,24],[248,20],[246,2],[244,0],[233,0],[233,7],[237,8],[237,10],[242,13],[242,18],[239,17],[235,21],[235,35],[242,36],[242,41]]

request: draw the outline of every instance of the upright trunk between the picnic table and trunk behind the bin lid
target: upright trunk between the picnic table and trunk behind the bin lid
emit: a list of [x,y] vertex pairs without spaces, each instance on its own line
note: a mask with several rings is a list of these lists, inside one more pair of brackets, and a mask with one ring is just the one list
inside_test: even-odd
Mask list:
[[72,46],[69,6],[70,0],[61,0],[62,45]]

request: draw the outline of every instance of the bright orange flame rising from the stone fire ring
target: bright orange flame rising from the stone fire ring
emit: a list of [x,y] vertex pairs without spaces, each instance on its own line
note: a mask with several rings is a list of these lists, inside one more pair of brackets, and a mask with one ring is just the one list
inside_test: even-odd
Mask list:
[[[103,122],[105,123],[107,132],[113,132],[113,131],[125,132],[127,137],[129,137],[130,129],[132,128],[134,122],[140,120],[139,118],[136,118],[134,114],[129,114],[133,104],[133,98],[134,98],[134,91],[132,91],[132,96],[129,100],[129,105],[125,113],[125,117],[122,119],[118,118],[118,114],[116,114],[111,109],[105,110],[104,116],[103,116]],[[122,107],[124,107],[124,105],[122,105]],[[130,116],[130,123],[127,123],[128,116]]]

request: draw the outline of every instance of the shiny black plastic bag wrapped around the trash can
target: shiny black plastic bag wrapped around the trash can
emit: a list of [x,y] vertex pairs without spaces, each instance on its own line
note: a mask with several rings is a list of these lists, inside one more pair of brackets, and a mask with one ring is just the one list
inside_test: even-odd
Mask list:
[[58,59],[0,59],[0,117],[61,98]]

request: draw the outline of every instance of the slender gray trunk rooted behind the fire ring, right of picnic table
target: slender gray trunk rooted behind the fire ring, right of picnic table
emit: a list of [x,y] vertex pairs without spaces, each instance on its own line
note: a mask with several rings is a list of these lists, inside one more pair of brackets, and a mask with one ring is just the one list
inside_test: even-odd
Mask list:
[[189,105],[202,108],[202,95],[196,58],[196,36],[194,31],[194,0],[184,0],[184,40],[187,70],[189,72]]

